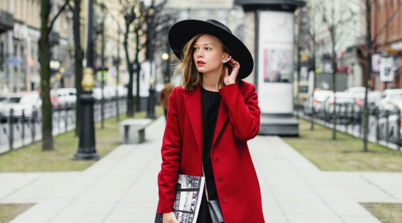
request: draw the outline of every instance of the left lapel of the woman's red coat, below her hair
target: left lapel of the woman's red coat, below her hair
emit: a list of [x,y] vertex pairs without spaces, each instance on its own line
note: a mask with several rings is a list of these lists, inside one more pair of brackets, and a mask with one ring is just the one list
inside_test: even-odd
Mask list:
[[201,110],[201,90],[196,87],[193,91],[186,91],[183,95],[188,118],[199,151],[203,151],[203,113]]

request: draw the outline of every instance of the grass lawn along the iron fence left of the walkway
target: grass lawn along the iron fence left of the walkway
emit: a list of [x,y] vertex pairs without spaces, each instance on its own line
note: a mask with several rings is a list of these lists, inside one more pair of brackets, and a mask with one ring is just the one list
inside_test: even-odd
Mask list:
[[[156,107],[156,116],[163,110]],[[146,112],[135,113],[134,118],[145,118]],[[126,119],[121,114],[120,120]],[[105,128],[95,123],[96,151],[102,159],[120,145],[119,123],[116,117],[105,120]],[[42,151],[42,142],[35,142],[15,151],[0,155],[0,172],[38,172],[38,171],[80,171],[92,165],[95,160],[72,160],[78,149],[78,137],[74,131],[54,137],[54,150]]]

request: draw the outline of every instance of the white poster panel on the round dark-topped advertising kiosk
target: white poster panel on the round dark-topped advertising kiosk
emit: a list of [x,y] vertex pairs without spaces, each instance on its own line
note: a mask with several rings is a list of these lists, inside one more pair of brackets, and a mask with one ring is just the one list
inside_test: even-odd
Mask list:
[[259,12],[258,101],[261,113],[293,113],[293,13]]

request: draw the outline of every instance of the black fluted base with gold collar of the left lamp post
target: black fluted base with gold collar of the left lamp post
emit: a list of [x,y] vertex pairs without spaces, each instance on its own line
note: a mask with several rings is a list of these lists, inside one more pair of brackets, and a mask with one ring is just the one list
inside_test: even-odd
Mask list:
[[91,68],[84,69],[81,85],[84,91],[79,97],[81,103],[79,143],[73,160],[98,160],[99,155],[95,148],[95,123],[93,121],[93,104],[95,103],[95,99],[92,96],[94,81]]

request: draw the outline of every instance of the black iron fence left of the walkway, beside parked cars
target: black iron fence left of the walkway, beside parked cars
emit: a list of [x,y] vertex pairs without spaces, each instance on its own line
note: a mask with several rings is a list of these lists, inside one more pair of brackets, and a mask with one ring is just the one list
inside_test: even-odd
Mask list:
[[[110,118],[127,111],[127,98],[114,97],[106,99],[104,117]],[[100,101],[94,104],[94,121],[102,119]],[[42,139],[41,108],[20,111],[10,110],[0,116],[0,154],[26,146]],[[75,106],[59,106],[53,108],[52,134],[59,135],[75,129]]]

